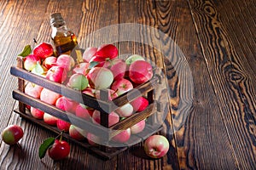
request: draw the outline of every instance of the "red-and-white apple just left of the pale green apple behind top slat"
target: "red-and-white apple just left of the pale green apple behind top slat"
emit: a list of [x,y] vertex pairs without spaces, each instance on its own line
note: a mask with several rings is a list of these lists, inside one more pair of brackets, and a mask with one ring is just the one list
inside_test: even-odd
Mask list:
[[62,83],[67,79],[67,71],[61,66],[52,66],[49,71],[47,71],[45,78],[53,82]]

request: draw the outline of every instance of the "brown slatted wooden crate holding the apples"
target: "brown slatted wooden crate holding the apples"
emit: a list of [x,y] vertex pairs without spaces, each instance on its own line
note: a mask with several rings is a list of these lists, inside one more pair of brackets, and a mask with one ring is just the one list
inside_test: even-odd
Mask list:
[[[131,89],[128,93],[122,94],[112,101],[108,101],[108,93],[106,90],[101,91],[101,99],[96,99],[87,94],[82,94],[80,91],[74,90],[73,88],[68,88],[60,83],[52,82],[44,77],[40,77],[36,74],[33,74],[29,71],[23,69],[22,58],[17,58],[17,66],[12,66],[10,72],[13,76],[18,77],[18,89],[13,91],[13,98],[19,101],[19,108],[15,110],[16,113],[20,116],[26,118],[29,121],[37,123],[38,125],[45,127],[52,132],[60,133],[61,131],[57,127],[49,126],[43,120],[38,120],[31,116],[29,111],[26,110],[26,105],[31,105],[32,107],[38,108],[41,111],[47,112],[52,116],[58,117],[63,121],[70,122],[73,125],[85,129],[87,132],[94,133],[97,136],[101,136],[104,144],[100,147],[94,147],[88,144],[86,141],[78,141],[69,137],[68,133],[64,133],[64,137],[72,140],[76,144],[80,144],[85,148],[89,149],[93,153],[96,153],[97,156],[100,156],[104,159],[110,159],[113,156],[116,156],[121,151],[126,150],[132,144],[137,144],[142,142],[144,139],[147,139],[148,136],[157,133],[160,131],[159,125],[154,123],[154,113],[160,109],[160,104],[154,101],[154,88],[159,83],[159,77],[156,75],[148,82],[145,82],[139,85],[137,88]],[[54,105],[49,105],[40,99],[35,99],[24,93],[25,82],[32,82],[42,86],[43,88],[48,88],[49,90],[61,94],[69,99],[73,99],[79,103],[87,105],[91,108],[94,108],[98,111],[101,111],[101,125],[96,123],[86,121],[78,116],[75,116],[72,113],[67,111],[61,111],[56,108]],[[108,114],[112,111],[115,111],[120,106],[127,104],[133,99],[137,99],[139,96],[145,96],[148,99],[148,107],[146,110],[137,112],[132,116],[125,118],[124,120],[114,124],[112,127],[108,127]],[[78,98],[77,96],[82,96]],[[117,147],[113,147],[114,143],[111,141],[111,138],[120,133],[122,130],[125,130],[128,127],[135,125],[137,122],[142,121],[143,119],[148,120],[149,123],[146,123],[142,133],[132,134],[131,139],[127,143],[118,144]]]

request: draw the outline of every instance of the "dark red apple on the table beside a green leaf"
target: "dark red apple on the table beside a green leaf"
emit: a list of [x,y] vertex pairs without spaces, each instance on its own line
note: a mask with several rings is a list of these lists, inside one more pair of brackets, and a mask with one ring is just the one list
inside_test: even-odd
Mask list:
[[70,152],[70,145],[65,140],[55,139],[55,143],[48,149],[51,159],[58,161],[66,158]]

